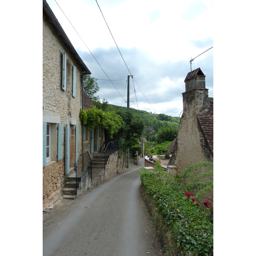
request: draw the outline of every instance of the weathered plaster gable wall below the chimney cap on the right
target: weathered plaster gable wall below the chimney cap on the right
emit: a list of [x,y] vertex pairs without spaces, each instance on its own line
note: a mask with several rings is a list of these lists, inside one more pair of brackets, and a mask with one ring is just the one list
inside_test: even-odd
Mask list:
[[175,151],[168,165],[187,166],[202,161],[213,161],[197,119],[198,113],[209,113],[208,89],[183,93],[183,115],[177,133]]

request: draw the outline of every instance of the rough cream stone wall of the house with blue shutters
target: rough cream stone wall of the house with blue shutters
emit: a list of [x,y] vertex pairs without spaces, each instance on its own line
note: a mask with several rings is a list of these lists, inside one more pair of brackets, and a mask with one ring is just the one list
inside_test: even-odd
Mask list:
[[[67,63],[67,91],[62,90],[62,54],[65,50]],[[76,97],[72,96],[72,66],[76,66]],[[79,111],[81,106],[81,69],[72,58],[71,53],[56,34],[52,25],[43,17],[43,114],[58,116],[63,124],[63,153],[62,160],[47,162],[43,168],[43,207],[58,202],[65,180],[65,130],[66,124],[71,124],[71,133],[75,125],[79,125],[79,154],[81,153],[81,122]],[[49,122],[44,120],[45,122]],[[57,127],[57,125],[56,125]],[[73,144],[72,139],[72,144]],[[56,140],[57,143],[57,140]],[[74,165],[74,147],[71,145],[71,160]]]

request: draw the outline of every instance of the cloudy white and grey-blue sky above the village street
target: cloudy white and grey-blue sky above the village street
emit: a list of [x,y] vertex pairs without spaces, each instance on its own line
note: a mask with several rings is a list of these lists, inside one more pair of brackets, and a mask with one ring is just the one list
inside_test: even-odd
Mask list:
[[[190,58],[213,47],[212,2],[47,0],[91,76],[99,79],[101,100],[126,106],[127,76],[133,75],[130,108],[171,116],[183,110]],[[214,47],[192,62],[192,70],[201,67],[206,75],[210,97],[213,51]]]

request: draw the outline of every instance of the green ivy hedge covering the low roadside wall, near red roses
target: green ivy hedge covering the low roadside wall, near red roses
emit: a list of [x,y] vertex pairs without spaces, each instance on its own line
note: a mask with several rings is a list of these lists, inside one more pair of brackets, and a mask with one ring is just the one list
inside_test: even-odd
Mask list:
[[[157,161],[156,173],[148,172],[145,169],[143,172],[139,171],[142,186],[145,187],[146,193],[151,196],[157,206],[157,211],[165,222],[169,233],[176,239],[176,243],[170,245],[167,254],[172,253],[175,248],[180,248],[185,254],[213,255],[213,223],[207,214],[209,208],[197,205],[196,201],[192,201],[184,193],[184,189],[187,189],[188,186],[183,184],[183,180],[189,177],[192,170],[202,166],[213,168],[212,163],[204,162],[189,166],[182,174],[177,173],[172,176],[164,172]],[[200,174],[200,176],[207,175],[210,176],[212,173]],[[199,184],[194,177],[195,175],[192,175],[189,186],[193,187],[196,184],[197,188],[207,187],[208,183]]]

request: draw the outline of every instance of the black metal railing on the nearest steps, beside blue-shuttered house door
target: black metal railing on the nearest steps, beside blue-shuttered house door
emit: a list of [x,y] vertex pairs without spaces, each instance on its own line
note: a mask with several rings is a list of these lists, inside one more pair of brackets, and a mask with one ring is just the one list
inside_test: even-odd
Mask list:
[[90,158],[90,154],[88,151],[82,152],[78,160],[76,161],[75,172],[76,172],[76,189],[79,188],[79,182],[81,177],[89,174],[90,180],[93,179],[93,169],[92,169],[93,161]]

